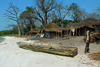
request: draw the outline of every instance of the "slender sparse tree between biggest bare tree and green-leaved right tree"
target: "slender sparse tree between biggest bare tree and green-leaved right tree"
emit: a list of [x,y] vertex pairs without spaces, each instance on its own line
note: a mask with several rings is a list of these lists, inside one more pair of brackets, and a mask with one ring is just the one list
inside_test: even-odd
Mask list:
[[59,17],[59,19],[61,20],[61,27],[63,27],[63,21],[64,21],[64,18],[66,17],[66,15],[68,14],[68,6],[62,6],[62,3],[60,3],[57,8],[57,15]]

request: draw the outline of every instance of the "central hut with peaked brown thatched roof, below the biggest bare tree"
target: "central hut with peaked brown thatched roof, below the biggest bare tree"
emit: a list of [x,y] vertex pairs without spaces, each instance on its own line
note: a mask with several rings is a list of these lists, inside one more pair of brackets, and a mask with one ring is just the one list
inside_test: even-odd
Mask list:
[[46,38],[52,38],[52,37],[62,37],[62,30],[63,28],[55,24],[54,22],[51,22],[48,24],[43,31],[45,32]]

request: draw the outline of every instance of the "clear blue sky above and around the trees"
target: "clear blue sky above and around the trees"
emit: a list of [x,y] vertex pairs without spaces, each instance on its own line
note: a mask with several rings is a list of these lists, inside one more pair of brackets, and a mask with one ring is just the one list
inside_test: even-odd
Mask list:
[[[85,11],[89,13],[92,13],[100,6],[100,0],[57,0],[57,2],[62,2],[63,5],[68,6],[72,3],[77,3],[80,8],[85,9]],[[13,5],[21,8],[22,11],[24,11],[27,6],[35,6],[34,0],[0,0],[0,31],[9,30],[9,28],[6,28],[8,24],[16,24],[14,21],[6,21],[7,19],[4,17],[9,3],[13,3]],[[69,17],[66,17],[66,19],[69,19]]]

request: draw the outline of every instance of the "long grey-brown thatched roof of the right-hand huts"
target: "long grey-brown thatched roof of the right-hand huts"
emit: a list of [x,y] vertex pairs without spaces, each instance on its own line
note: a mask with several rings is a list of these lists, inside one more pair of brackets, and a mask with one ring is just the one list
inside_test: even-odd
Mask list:
[[93,25],[100,25],[100,20],[99,21],[96,21],[96,20],[83,20],[79,23],[69,23],[67,24],[67,26],[65,27],[65,29],[71,29],[72,27],[74,29],[76,28],[81,28],[81,27],[90,27],[90,28],[94,28]]

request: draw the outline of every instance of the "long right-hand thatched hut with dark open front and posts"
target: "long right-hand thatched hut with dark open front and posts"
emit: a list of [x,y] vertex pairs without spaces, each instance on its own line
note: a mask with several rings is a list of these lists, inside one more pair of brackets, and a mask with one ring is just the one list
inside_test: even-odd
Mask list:
[[76,35],[86,35],[86,31],[95,31],[95,27],[100,26],[100,20],[83,20],[79,23],[69,23],[65,30],[67,30],[67,35],[72,35],[71,29],[75,29]]

